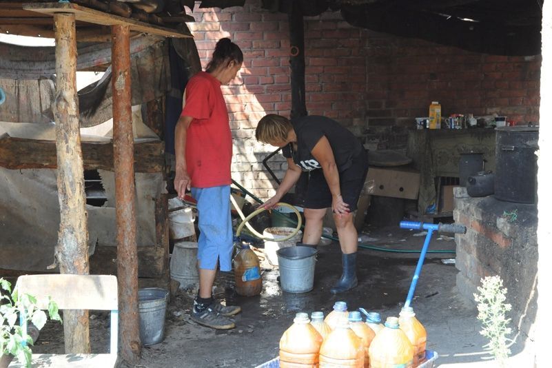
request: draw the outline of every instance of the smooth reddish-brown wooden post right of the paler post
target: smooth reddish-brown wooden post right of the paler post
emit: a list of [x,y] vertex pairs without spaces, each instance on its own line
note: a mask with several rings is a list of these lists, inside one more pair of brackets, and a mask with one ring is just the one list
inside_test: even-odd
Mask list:
[[138,314],[138,249],[134,203],[134,137],[130,93],[130,29],[112,25],[113,157],[117,224],[117,280],[121,358],[138,362],[141,353]]

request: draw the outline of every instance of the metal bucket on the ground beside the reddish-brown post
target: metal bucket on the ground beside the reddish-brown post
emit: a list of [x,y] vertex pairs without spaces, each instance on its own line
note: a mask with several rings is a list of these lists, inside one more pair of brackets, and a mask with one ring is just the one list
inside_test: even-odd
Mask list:
[[161,343],[165,338],[165,313],[169,292],[159,287],[138,291],[140,340],[145,346]]

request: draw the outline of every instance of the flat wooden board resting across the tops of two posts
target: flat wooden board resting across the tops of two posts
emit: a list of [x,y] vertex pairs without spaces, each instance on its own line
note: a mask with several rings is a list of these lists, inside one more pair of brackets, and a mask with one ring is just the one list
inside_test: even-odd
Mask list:
[[25,3],[23,4],[23,9],[32,10],[41,14],[55,14],[57,12],[73,13],[79,21],[101,25],[122,25],[129,27],[130,30],[148,34],[156,34],[163,37],[193,37],[192,34],[185,34],[172,30],[171,28],[165,28],[160,25],[153,25],[136,21],[134,19],[119,17],[117,15],[108,14],[99,10],[85,8],[74,3]]

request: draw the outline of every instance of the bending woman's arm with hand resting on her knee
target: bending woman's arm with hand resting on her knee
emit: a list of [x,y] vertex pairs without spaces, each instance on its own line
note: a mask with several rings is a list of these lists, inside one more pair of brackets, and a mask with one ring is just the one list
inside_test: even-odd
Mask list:
[[331,192],[331,209],[336,214],[346,214],[349,212],[349,205],[343,202],[341,198],[341,189],[339,186],[339,170],[334,158],[334,151],[331,150],[328,139],[323,136],[316,143],[311,151],[312,156],[320,163],[324,172],[324,177],[328,183]]

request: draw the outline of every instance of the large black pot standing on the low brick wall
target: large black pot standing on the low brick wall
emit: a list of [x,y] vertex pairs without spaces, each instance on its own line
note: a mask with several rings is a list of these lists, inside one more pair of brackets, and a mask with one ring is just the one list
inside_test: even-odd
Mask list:
[[535,203],[538,141],[538,127],[496,128],[495,198]]

